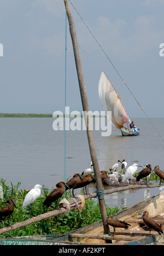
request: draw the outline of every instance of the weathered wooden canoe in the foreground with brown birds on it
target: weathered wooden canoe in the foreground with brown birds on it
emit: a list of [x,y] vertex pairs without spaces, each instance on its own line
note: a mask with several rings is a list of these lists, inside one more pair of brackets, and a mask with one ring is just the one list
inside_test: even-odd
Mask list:
[[[164,235],[151,231],[140,219],[144,211],[148,211],[151,218],[161,224],[164,230],[164,193],[157,194],[137,205],[126,208],[115,214],[113,218],[131,224],[128,230],[116,228],[114,236],[103,234],[102,220],[84,226],[65,235],[26,236],[0,239],[1,245],[110,245],[106,240],[112,240],[112,245],[164,245]],[[113,233],[113,228],[110,227]]]

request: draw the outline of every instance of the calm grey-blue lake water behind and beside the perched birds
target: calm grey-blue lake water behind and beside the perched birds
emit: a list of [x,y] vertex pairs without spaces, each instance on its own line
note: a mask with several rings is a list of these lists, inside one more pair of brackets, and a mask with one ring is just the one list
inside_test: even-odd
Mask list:
[[[1,118],[0,119],[0,177],[13,184],[21,182],[21,189],[32,189],[36,184],[55,188],[65,176],[65,132],[54,131],[51,118]],[[164,119],[152,119],[164,137]],[[100,170],[109,170],[118,160],[125,159],[128,166],[134,161],[144,166],[159,165],[163,170],[164,143],[146,118],[135,118],[140,135],[122,137],[112,128],[112,135],[102,137],[93,131]],[[66,177],[89,168],[90,152],[86,131],[66,132]],[[141,168],[138,168],[140,171]],[[109,189],[105,187],[105,189]],[[95,191],[91,185],[89,192]],[[159,188],[138,189],[106,195],[109,207],[131,206],[160,193]]]

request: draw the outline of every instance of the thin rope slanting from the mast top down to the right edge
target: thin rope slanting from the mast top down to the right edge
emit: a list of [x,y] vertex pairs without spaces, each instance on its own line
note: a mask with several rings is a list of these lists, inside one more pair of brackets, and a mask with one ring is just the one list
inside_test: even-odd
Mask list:
[[160,136],[160,138],[162,139],[162,141],[164,142],[163,137],[161,136],[160,132],[157,130],[156,126],[154,125],[153,121],[151,121],[151,119],[148,117],[147,113],[145,113],[143,107],[140,105],[140,103],[138,102],[137,98],[133,95],[132,91],[130,90],[130,88],[128,87],[128,85],[126,84],[125,80],[122,78],[121,74],[119,73],[119,71],[116,69],[116,67],[114,66],[113,62],[109,59],[108,55],[106,54],[106,52],[104,51],[104,49],[102,48],[101,44],[99,44],[98,40],[96,39],[96,37],[93,35],[92,31],[90,30],[90,28],[87,26],[86,22],[83,20],[83,18],[81,17],[81,15],[79,14],[78,10],[74,7],[73,3],[69,0],[69,2],[72,4],[73,8],[75,9],[75,11],[77,12],[77,14],[79,15],[80,19],[84,22],[85,26],[87,27],[87,29],[89,30],[89,32],[91,33],[92,37],[96,40],[96,43],[99,45],[99,47],[101,48],[101,50],[103,51],[104,55],[107,57],[107,59],[109,60],[110,64],[113,66],[113,68],[115,69],[116,73],[118,74],[118,76],[121,78],[122,82],[125,84],[126,88],[130,91],[131,95],[133,96],[134,100],[136,100],[136,102],[138,103],[140,109],[143,111],[143,113],[145,114],[145,116],[148,118],[148,120],[150,121],[151,125],[153,125],[154,129],[156,130],[156,132],[158,133],[158,135]]

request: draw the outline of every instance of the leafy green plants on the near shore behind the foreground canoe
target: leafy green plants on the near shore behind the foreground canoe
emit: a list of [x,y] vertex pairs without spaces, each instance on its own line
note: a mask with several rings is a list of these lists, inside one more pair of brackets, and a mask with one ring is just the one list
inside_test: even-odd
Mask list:
[[[24,198],[27,194],[27,191],[19,189],[21,183],[19,182],[16,185],[10,183],[10,185],[7,185],[5,181],[1,179],[0,185],[2,185],[3,187],[4,194],[4,199],[0,199],[0,210],[7,205],[5,203],[7,199],[14,199],[17,207],[17,209],[15,208],[14,213],[9,218],[9,224],[13,225],[15,223],[23,222],[24,220],[30,218],[28,207],[25,208],[25,210],[22,209],[22,204],[24,202]],[[44,190],[43,196],[39,197],[33,203],[33,216],[38,216],[39,214],[43,214],[45,212],[52,211],[55,209],[55,203],[52,203],[49,209],[46,209],[43,206],[43,201],[49,193],[50,191]],[[72,197],[70,190],[66,194],[66,198],[69,197]],[[114,209],[107,207],[108,216],[118,212],[118,207],[115,207]],[[0,235],[0,237],[3,238],[16,236],[65,234],[66,232],[81,228],[81,226],[86,226],[91,223],[95,223],[100,219],[101,212],[99,210],[99,205],[95,203],[94,199],[89,199],[85,201],[85,206],[81,213],[79,213],[78,210],[71,211],[65,216],[58,215],[56,217],[45,219],[42,220],[41,222],[25,226],[24,228],[4,233]],[[8,219],[6,219],[6,224],[8,224]],[[0,220],[0,229],[3,228],[4,226],[4,220]]]

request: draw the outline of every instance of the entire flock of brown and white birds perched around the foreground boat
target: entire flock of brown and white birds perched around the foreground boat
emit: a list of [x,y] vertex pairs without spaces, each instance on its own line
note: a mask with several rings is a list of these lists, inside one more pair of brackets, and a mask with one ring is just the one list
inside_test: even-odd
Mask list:
[[[113,165],[112,168],[110,168],[109,170],[110,171],[116,171],[116,168],[118,168],[118,166],[119,166],[119,162],[121,163],[121,169],[124,172],[126,171],[122,181],[125,182],[125,181],[128,180],[129,184],[131,184],[131,178],[134,175],[134,173],[136,173],[137,167],[142,167],[142,166],[139,166],[138,164],[135,163],[132,166],[128,167],[127,170],[126,170],[127,162],[124,159],[123,161],[118,160],[118,163]],[[46,197],[46,199],[43,202],[43,205],[48,208],[48,207],[50,207],[52,202],[55,202],[55,204],[57,206],[57,200],[63,195],[63,193],[65,193],[66,190],[72,189],[72,195],[74,197],[74,189],[79,189],[79,188],[85,188],[86,189],[87,185],[89,185],[92,182],[95,182],[96,179],[91,174],[93,172],[92,162],[90,163],[90,165],[91,165],[91,168],[87,168],[81,174],[80,173],[75,173],[73,178],[69,179],[69,181],[67,183],[58,182],[56,184],[56,189],[54,189],[50,193],[50,195],[48,197]],[[147,164],[146,168],[143,168],[143,170],[139,172],[139,174],[136,178],[136,181],[140,181],[140,179],[142,179],[142,178],[146,178],[146,180],[147,180],[147,178],[150,176],[151,171],[152,171],[151,165]],[[164,172],[160,170],[158,165],[154,167],[153,171],[155,171],[157,176],[160,177],[160,184],[161,184],[161,180],[164,179]],[[101,171],[102,181],[104,179],[106,179],[106,177],[107,177],[107,171]],[[40,195],[42,195],[42,193],[41,193],[42,189],[46,189],[46,188],[37,184],[25,196],[22,208],[24,209],[27,206],[29,206],[30,218],[32,218],[32,203],[34,201],[36,201],[36,199]],[[48,190],[48,189],[46,189],[46,190]],[[8,203],[9,205],[2,208],[2,210],[0,211],[0,218],[9,217],[14,212],[14,207],[16,207],[15,201],[13,199],[9,199],[9,200],[6,201],[6,203]],[[162,231],[161,227],[153,219],[149,218],[149,213],[148,212],[145,211],[143,213],[142,218],[143,218],[144,223],[150,228],[150,231],[151,231],[151,229],[154,229],[157,232],[159,232],[160,235],[163,234],[163,231]],[[114,232],[115,232],[115,228],[128,229],[128,226],[130,226],[130,224],[125,223],[125,222],[121,222],[121,220],[118,220],[118,219],[113,219],[111,216],[108,217],[106,222],[104,222],[104,223],[107,223],[108,225],[113,226]]]

